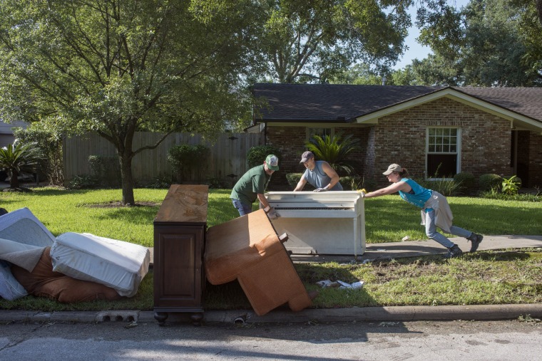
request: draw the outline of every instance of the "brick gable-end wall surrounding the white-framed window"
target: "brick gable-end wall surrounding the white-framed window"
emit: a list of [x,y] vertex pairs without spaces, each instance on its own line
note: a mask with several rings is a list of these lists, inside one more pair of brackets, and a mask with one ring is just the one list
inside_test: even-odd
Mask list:
[[475,177],[511,174],[510,122],[441,98],[379,120],[374,127],[374,174],[367,175],[384,186],[387,179],[382,172],[397,163],[408,169],[411,177],[424,177],[427,127],[461,128],[461,172],[471,172]]

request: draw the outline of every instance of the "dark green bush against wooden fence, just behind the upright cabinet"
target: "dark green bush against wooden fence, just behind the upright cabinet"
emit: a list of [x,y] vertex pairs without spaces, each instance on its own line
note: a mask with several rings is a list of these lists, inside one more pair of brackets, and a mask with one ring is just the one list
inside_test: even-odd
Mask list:
[[210,150],[205,145],[175,145],[168,151],[168,161],[179,182],[191,179],[192,173],[196,182],[202,182],[209,155]]

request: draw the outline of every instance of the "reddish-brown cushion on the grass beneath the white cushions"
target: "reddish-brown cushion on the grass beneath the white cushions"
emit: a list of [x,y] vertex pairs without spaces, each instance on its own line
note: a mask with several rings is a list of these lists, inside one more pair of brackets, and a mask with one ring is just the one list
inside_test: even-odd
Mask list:
[[96,282],[77,280],[53,271],[50,251],[51,247],[44,249],[44,253],[31,272],[19,266],[11,267],[11,273],[29,294],[51,298],[61,303],[122,298],[111,287]]

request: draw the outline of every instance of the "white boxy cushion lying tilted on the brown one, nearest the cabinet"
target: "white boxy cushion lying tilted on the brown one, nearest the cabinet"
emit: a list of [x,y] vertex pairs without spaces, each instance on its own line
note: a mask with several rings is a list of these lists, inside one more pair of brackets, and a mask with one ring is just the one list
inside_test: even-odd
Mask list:
[[131,297],[148,272],[148,248],[93,234],[68,232],[51,247],[53,271],[114,288]]

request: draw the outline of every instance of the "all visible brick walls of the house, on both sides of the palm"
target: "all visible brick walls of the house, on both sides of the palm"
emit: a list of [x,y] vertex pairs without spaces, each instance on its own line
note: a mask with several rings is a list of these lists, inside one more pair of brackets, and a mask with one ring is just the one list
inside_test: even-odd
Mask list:
[[[363,164],[358,173],[383,187],[388,182],[382,172],[391,163],[406,167],[412,177],[424,177],[426,128],[435,126],[461,128],[461,172],[471,172],[475,177],[485,173],[512,174],[510,122],[448,98],[382,117],[372,127],[343,130],[362,140],[364,149],[355,156]],[[336,132],[340,130],[335,128]],[[536,152],[536,146],[542,152],[542,137],[533,143],[531,152]],[[277,178],[275,184],[287,184],[286,173],[304,170],[299,159],[305,150],[305,127],[270,126],[267,144],[275,145],[282,153],[280,172],[273,176]],[[538,154],[538,159],[542,155]]]

